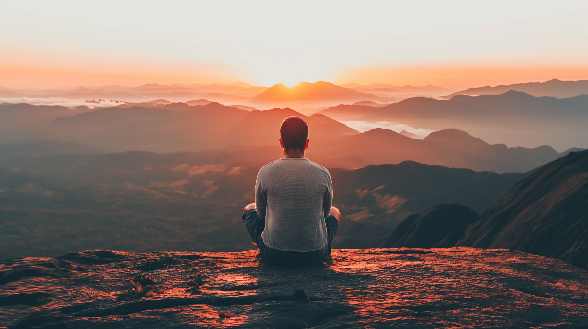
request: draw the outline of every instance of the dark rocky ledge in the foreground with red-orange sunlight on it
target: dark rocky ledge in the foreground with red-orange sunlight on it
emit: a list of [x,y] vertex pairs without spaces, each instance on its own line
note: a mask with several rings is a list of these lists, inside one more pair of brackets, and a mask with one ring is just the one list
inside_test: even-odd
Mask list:
[[588,327],[588,272],[506,249],[335,250],[311,267],[257,251],[93,250],[0,271],[12,328]]

